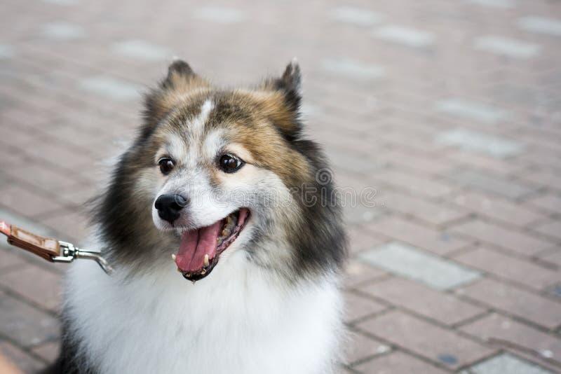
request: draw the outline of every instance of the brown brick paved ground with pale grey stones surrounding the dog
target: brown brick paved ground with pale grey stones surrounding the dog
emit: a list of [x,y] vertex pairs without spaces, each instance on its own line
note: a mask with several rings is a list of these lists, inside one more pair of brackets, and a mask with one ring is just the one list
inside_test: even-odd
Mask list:
[[[370,191],[343,371],[559,372],[561,3],[204,4],[2,1],[1,217],[79,241],[170,56],[233,84],[296,55],[309,133]],[[0,251],[0,349],[27,371],[57,354],[63,268]]]

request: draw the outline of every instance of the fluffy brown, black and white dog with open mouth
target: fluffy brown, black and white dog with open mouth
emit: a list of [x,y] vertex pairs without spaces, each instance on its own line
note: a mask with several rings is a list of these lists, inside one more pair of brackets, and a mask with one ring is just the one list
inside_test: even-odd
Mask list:
[[329,374],[346,235],[301,74],[222,89],[175,60],[95,200],[115,268],[65,279],[62,373]]

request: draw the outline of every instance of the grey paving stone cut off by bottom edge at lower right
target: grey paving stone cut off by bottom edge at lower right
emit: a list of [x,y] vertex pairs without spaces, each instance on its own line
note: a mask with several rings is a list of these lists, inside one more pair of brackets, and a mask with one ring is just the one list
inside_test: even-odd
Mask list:
[[461,374],[553,374],[512,354],[503,353],[473,365]]

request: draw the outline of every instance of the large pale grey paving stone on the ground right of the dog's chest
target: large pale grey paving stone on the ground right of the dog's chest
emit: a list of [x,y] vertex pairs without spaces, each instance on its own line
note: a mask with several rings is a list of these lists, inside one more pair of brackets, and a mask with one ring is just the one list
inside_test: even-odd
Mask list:
[[358,256],[370,265],[423,282],[434,289],[451,289],[480,278],[480,273],[475,270],[400,242],[383,244],[362,251]]

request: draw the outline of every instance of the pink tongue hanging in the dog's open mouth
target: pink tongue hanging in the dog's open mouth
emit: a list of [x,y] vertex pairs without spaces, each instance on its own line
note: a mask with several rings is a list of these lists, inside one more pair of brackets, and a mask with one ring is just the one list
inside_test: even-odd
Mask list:
[[203,268],[205,254],[212,260],[216,256],[216,238],[222,228],[222,220],[198,230],[185,231],[181,235],[180,249],[175,256],[177,267],[184,272],[196,272]]

